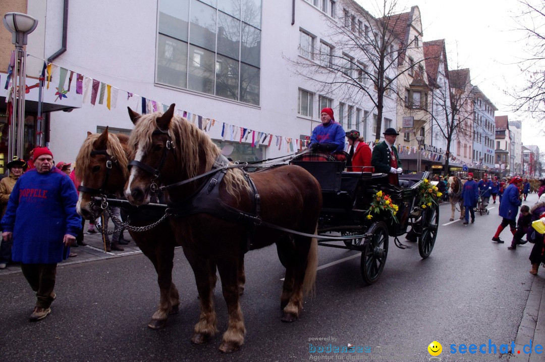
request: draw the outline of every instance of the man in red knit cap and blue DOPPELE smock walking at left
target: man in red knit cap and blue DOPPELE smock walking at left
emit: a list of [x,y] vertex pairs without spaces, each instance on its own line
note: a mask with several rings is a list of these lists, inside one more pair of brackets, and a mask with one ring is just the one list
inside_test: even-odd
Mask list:
[[21,262],[23,275],[36,292],[32,322],[51,312],[57,263],[68,257],[81,228],[76,188],[53,167],[51,151],[34,149],[34,166],[17,180],[2,218],[4,240],[13,239],[11,258]]

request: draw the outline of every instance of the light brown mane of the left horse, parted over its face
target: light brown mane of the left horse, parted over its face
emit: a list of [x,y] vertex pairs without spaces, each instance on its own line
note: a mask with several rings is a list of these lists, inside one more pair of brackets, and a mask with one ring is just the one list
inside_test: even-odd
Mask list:
[[[76,157],[76,177],[82,179],[84,170],[88,170],[91,161],[91,151],[94,150],[94,143],[100,137],[100,133],[94,133],[87,136],[86,140],[81,145],[80,152]],[[128,137],[123,134],[112,134],[108,132],[108,142],[106,146],[106,152],[112,158],[117,160],[119,170],[123,173],[123,178],[129,178],[129,160],[125,148],[119,141],[122,139],[124,143],[128,140]]]

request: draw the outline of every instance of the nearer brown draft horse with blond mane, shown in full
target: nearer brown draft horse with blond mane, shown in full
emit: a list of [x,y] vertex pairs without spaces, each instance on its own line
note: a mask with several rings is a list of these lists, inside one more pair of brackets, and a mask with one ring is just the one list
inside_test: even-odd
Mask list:
[[[125,186],[125,196],[134,205],[150,200],[152,182],[170,185],[201,175],[217,167],[220,149],[210,137],[185,118],[174,116],[174,104],[164,114],[140,115],[129,109],[135,128],[129,139],[138,167],[131,168]],[[135,162],[132,161],[132,162]],[[143,166],[142,166],[143,165]],[[152,172],[153,168],[155,171]],[[147,170],[146,170],[147,169]],[[214,177],[214,176],[213,176]],[[281,166],[250,174],[261,196],[263,221],[272,222],[299,232],[316,234],[322,208],[322,191],[317,180],[298,166]],[[170,189],[169,205],[183,205],[187,197],[210,178],[198,178]],[[210,188],[208,188],[210,190]],[[253,192],[240,168],[228,168],[219,184],[219,198],[229,207],[253,213]],[[295,321],[302,309],[302,297],[310,292],[317,269],[316,238],[298,236],[264,226],[233,222],[199,212],[169,219],[175,237],[183,246],[191,264],[199,293],[201,315],[195,325],[191,341],[203,343],[217,332],[213,288],[216,275],[210,264],[220,273],[223,298],[228,307],[228,328],[220,345],[222,352],[234,352],[244,343],[245,327],[237,292],[237,264],[248,246],[263,248],[276,243],[279,254],[286,256],[287,268],[281,294],[282,321]]]

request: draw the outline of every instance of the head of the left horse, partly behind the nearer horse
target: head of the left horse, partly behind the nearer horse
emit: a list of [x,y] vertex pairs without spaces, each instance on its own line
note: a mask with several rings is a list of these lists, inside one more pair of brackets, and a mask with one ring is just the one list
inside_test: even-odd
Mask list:
[[91,201],[94,196],[121,195],[128,179],[126,135],[114,135],[108,128],[101,134],[87,132],[76,158],[76,177],[81,181],[77,212],[83,218],[92,219],[99,211]]

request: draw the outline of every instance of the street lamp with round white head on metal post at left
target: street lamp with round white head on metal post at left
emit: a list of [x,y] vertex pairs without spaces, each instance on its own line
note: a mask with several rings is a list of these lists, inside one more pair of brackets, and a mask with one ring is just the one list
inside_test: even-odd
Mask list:
[[13,67],[13,112],[8,139],[8,160],[15,154],[23,156],[25,144],[25,85],[26,57],[24,48],[27,45],[28,34],[38,26],[38,20],[22,13],[6,13],[4,26],[11,32],[11,44],[15,45],[15,64]]

